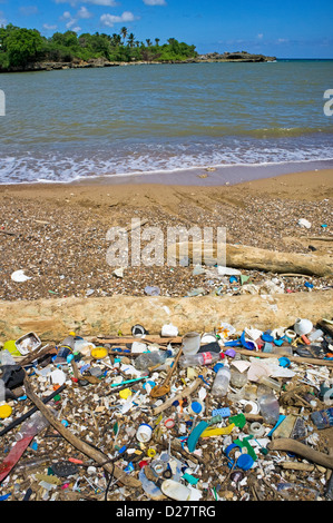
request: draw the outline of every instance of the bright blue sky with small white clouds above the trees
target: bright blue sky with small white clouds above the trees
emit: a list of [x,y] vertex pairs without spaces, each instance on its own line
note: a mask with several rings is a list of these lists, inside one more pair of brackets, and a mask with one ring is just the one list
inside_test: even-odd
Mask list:
[[0,23],[56,31],[119,32],[209,51],[333,58],[332,0],[0,0]]

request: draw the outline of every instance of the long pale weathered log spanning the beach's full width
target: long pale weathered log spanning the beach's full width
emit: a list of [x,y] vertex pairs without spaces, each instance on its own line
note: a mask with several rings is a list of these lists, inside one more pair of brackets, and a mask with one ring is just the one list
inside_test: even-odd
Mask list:
[[[262,330],[288,326],[297,318],[316,324],[333,317],[333,289],[242,296],[105,296],[99,298],[52,298],[37,300],[0,300],[0,341],[18,339],[26,333],[37,333],[43,342],[59,343],[74,330],[78,336],[106,336],[121,330],[129,336],[140,323],[156,337],[165,324],[177,326],[179,334],[190,330],[209,333],[221,322],[236,330],[255,326]],[[133,338],[131,338],[133,339]],[[131,341],[130,339],[130,341]],[[138,338],[139,339],[139,338]],[[167,341],[168,338],[165,338]],[[170,339],[168,339],[169,342]]]

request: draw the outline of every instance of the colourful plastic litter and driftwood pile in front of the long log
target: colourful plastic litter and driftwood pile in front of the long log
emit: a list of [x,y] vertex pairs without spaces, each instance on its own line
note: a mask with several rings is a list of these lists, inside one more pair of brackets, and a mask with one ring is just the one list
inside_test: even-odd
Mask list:
[[332,325],[6,341],[0,499],[332,500]]

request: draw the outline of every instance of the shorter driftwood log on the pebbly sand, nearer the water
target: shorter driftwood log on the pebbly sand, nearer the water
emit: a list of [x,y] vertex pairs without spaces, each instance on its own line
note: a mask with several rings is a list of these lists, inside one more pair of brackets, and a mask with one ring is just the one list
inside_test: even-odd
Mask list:
[[257,269],[268,273],[293,273],[313,276],[332,276],[333,257],[322,254],[283,253],[246,245],[179,241],[168,246],[168,259],[176,264],[188,256],[196,265],[224,265],[238,269]]

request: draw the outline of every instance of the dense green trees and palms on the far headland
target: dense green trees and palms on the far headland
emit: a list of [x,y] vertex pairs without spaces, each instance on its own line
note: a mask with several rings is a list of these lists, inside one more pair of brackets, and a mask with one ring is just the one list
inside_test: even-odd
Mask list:
[[50,38],[43,37],[36,29],[25,29],[9,23],[0,28],[0,68],[23,68],[27,63],[38,61],[74,60],[88,61],[105,58],[109,61],[178,61],[197,56],[195,46],[169,38],[167,43],[147,39],[138,41],[121,28],[120,33],[78,36],[74,31],[55,32]]

